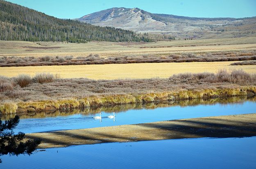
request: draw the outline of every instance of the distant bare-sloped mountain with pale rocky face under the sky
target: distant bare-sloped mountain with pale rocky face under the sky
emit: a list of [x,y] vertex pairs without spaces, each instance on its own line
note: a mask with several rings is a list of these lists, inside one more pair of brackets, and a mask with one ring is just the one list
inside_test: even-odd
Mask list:
[[178,38],[231,38],[256,35],[256,17],[193,18],[121,7],[91,13],[75,20],[141,33],[172,34]]

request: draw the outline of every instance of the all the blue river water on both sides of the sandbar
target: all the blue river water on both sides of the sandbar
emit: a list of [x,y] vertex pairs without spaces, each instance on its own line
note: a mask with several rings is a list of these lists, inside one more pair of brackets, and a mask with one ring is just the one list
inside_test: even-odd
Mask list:
[[[203,104],[122,105],[72,112],[20,115],[14,130],[25,133],[127,125],[162,120],[256,113],[255,99]],[[223,103],[224,102],[224,103]],[[116,112],[115,119],[106,118]],[[95,120],[99,116],[102,120]],[[8,117],[5,117],[8,119]],[[255,169],[256,137],[199,138],[80,145],[36,151],[31,156],[0,156],[0,169]]]

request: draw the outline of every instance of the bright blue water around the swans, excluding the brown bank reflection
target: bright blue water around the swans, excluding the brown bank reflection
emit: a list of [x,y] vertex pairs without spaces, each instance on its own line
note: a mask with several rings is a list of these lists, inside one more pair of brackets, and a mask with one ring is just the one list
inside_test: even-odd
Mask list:
[[[109,107],[111,109],[111,107]],[[108,111],[108,112],[106,112]],[[239,103],[212,105],[193,105],[193,106],[169,106],[157,107],[154,109],[129,109],[116,112],[115,119],[109,119],[107,116],[113,115],[113,111],[101,111],[102,120],[95,120],[93,116],[100,116],[99,113],[77,113],[66,116],[54,116],[45,118],[23,118],[15,132],[24,133],[66,130],[66,129],[84,129],[93,127],[106,127],[114,125],[129,125],[145,122],[156,122],[163,120],[174,120],[183,118],[198,118],[208,116],[223,116],[245,113],[256,113],[256,102],[245,100]],[[96,113],[96,114],[95,114]]]

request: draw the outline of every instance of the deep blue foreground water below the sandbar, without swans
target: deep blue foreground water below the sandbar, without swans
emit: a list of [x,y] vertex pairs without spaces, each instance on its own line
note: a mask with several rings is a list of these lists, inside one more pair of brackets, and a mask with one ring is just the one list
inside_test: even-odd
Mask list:
[[[256,137],[200,138],[80,145],[32,156],[3,156],[3,168],[255,169]],[[65,160],[63,160],[65,159]]]

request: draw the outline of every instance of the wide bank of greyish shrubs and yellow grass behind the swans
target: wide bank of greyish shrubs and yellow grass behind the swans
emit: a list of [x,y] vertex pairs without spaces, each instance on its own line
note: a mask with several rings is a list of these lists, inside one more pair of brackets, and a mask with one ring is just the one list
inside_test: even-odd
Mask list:
[[51,74],[38,74],[31,78],[23,75],[1,77],[0,112],[8,114],[255,94],[256,75],[242,70],[136,80],[57,79]]

